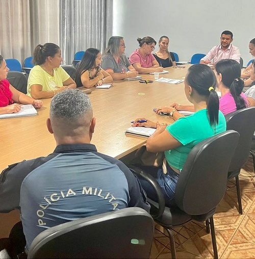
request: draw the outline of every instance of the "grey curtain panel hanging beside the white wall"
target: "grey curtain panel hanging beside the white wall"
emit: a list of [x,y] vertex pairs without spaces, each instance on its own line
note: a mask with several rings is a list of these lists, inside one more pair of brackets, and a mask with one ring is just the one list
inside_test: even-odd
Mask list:
[[71,64],[73,55],[89,47],[104,51],[112,36],[113,0],[61,0],[62,56]]

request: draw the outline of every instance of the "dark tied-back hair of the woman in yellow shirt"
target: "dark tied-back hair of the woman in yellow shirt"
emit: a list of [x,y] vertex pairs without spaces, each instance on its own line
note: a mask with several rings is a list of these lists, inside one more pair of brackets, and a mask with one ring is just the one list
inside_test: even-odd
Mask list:
[[59,46],[55,43],[37,45],[33,53],[33,63],[35,65],[43,64],[48,57],[54,57],[58,53],[59,49]]

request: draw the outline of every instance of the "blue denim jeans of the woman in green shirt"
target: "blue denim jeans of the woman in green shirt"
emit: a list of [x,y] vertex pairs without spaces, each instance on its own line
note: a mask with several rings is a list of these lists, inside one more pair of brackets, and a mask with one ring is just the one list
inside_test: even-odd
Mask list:
[[[166,174],[163,173],[162,167],[143,166],[141,168],[157,180],[164,194],[166,205],[174,205],[173,197],[179,174],[174,172],[168,164]],[[157,194],[154,188],[152,188],[152,186],[145,179],[141,177],[138,178],[148,198],[157,201]]]

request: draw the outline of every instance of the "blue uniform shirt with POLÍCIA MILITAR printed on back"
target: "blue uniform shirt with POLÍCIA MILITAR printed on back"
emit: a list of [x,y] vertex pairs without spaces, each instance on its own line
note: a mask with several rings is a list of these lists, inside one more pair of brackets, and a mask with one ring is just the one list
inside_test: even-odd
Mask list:
[[136,176],[92,144],[59,145],[0,175],[0,212],[20,210],[27,249],[46,228],[133,206],[150,208]]

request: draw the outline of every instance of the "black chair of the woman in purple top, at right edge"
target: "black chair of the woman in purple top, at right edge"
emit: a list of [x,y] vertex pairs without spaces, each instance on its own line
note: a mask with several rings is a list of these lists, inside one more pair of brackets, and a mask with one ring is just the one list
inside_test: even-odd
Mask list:
[[229,113],[225,118],[227,130],[234,130],[240,134],[237,149],[231,161],[230,169],[228,169],[227,178],[236,178],[238,208],[239,213],[243,214],[238,175],[249,157],[251,141],[255,131],[255,107],[248,107]]

